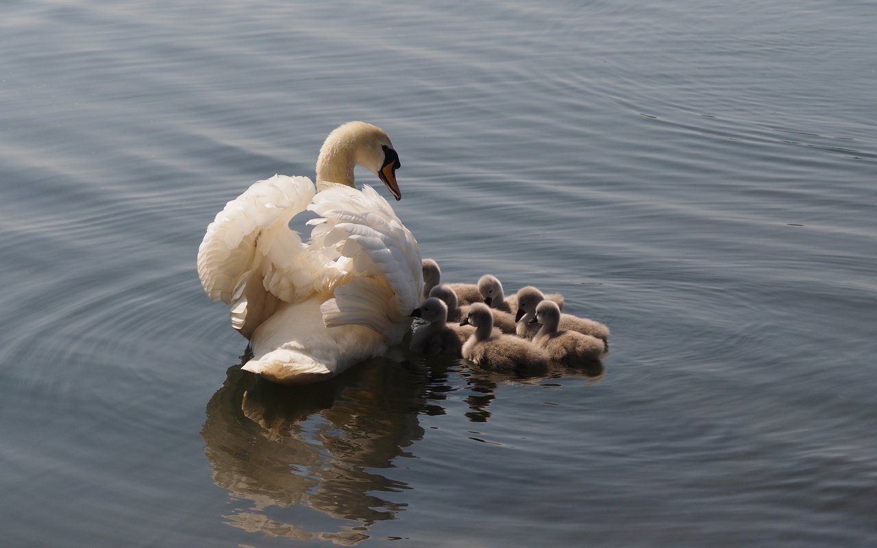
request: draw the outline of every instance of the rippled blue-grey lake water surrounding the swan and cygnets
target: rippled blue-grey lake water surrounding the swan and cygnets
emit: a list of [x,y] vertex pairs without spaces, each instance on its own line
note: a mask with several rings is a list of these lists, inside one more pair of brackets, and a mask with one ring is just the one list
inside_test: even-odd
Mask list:
[[[873,2],[232,4],[4,4],[4,545],[873,545]],[[204,229],[352,119],[602,367],[241,372]]]

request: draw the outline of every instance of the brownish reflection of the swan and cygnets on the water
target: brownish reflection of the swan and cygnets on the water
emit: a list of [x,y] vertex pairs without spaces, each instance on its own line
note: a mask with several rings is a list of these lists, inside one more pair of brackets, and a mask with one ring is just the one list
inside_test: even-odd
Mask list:
[[[242,359],[246,362],[246,357]],[[374,359],[339,377],[286,387],[228,369],[225,383],[207,404],[201,434],[217,486],[249,501],[225,516],[239,529],[297,539],[323,538],[356,544],[374,523],[405,509],[398,494],[410,486],[384,471],[413,456],[423,438],[418,416],[460,409],[477,423],[490,418],[499,388],[538,386],[571,374],[602,376],[599,362],[585,369],[555,367],[546,376],[517,377],[459,359],[400,352]],[[311,532],[301,523],[325,523]],[[322,526],[322,525],[321,525]]]

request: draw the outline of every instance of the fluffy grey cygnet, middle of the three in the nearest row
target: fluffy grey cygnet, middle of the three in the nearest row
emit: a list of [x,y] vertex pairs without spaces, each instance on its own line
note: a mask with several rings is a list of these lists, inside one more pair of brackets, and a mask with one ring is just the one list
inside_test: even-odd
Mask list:
[[472,324],[475,331],[463,345],[463,358],[475,364],[504,370],[534,370],[548,367],[548,354],[523,338],[496,335],[493,314],[486,304],[476,302],[469,307],[463,324]]

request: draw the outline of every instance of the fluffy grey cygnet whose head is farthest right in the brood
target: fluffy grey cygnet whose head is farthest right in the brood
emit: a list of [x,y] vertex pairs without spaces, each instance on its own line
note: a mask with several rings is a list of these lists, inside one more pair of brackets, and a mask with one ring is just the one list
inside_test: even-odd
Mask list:
[[599,359],[603,341],[577,331],[558,331],[560,308],[552,301],[539,302],[532,324],[540,324],[533,344],[544,348],[554,361],[574,365],[582,361]]

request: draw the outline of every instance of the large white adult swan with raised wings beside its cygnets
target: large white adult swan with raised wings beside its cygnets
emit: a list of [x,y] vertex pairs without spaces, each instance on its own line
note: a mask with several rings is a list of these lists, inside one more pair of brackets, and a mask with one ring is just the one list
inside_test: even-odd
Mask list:
[[[410,331],[423,288],[417,240],[374,189],[355,189],[356,165],[401,199],[387,134],[349,122],[320,148],[316,189],[307,177],[275,175],[207,227],[198,277],[210,298],[232,305],[232,327],[250,339],[246,371],[283,384],[322,381]],[[307,243],[289,229],[304,210],[320,216],[308,221]]]

